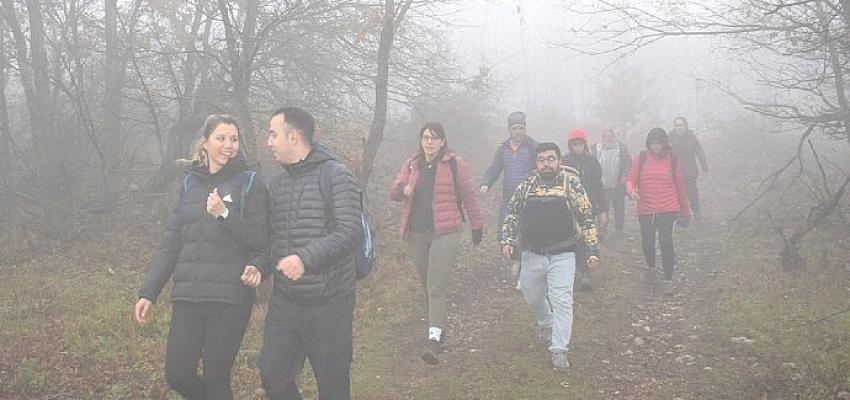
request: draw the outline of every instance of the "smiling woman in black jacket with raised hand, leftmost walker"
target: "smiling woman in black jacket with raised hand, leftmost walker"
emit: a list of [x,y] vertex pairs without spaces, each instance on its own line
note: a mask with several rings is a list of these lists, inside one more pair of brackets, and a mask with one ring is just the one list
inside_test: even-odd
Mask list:
[[166,381],[186,399],[232,399],[230,372],[269,242],[268,191],[240,157],[236,119],[210,115],[201,133],[135,318],[146,322],[170,278]]

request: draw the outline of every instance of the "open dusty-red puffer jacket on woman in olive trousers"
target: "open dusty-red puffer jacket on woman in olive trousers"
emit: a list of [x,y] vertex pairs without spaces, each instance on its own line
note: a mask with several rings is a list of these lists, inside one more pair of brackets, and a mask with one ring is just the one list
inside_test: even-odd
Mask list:
[[[411,197],[405,197],[402,191],[405,184],[416,187],[416,182],[421,172],[417,158],[418,156],[414,156],[405,161],[401,165],[398,176],[396,176],[390,185],[390,199],[404,202],[401,211],[401,223],[399,224],[399,235],[403,239],[407,238],[407,228],[410,223],[413,201]],[[473,230],[481,229],[484,223],[481,218],[481,211],[478,209],[475,185],[472,183],[472,176],[469,174],[466,163],[463,162],[463,159],[457,153],[447,150],[437,164],[437,175],[434,178],[432,207],[434,211],[434,231],[438,235],[458,232],[463,229],[463,219],[457,205],[457,193],[455,192],[452,169],[449,166],[449,160],[452,158],[457,162],[457,186],[461,191],[463,207],[466,209],[470,228]]]

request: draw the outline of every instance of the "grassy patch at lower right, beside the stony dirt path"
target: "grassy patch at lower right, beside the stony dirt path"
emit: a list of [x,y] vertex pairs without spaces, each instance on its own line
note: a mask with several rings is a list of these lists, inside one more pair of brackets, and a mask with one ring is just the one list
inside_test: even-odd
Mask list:
[[718,329],[745,336],[742,354],[772,371],[765,385],[799,398],[832,398],[850,389],[850,280],[845,270],[809,268],[789,274],[770,257],[742,255],[741,269],[720,286],[731,295],[720,305]]

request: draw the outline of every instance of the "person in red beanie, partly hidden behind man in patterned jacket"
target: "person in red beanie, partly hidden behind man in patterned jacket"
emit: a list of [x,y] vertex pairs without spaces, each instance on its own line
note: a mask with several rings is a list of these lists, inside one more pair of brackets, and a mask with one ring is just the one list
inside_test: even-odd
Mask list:
[[[578,171],[582,186],[587,191],[590,199],[591,213],[596,218],[596,226],[605,225],[608,212],[608,202],[605,201],[605,192],[602,190],[602,166],[599,161],[590,154],[587,145],[587,134],[581,129],[573,129],[567,135],[567,153],[561,159],[561,164],[572,167]],[[600,237],[600,240],[602,238]],[[577,259],[581,260],[584,248],[579,246],[576,250]],[[588,291],[593,288],[590,281],[590,270],[587,265],[579,263],[577,272],[576,289]]]

